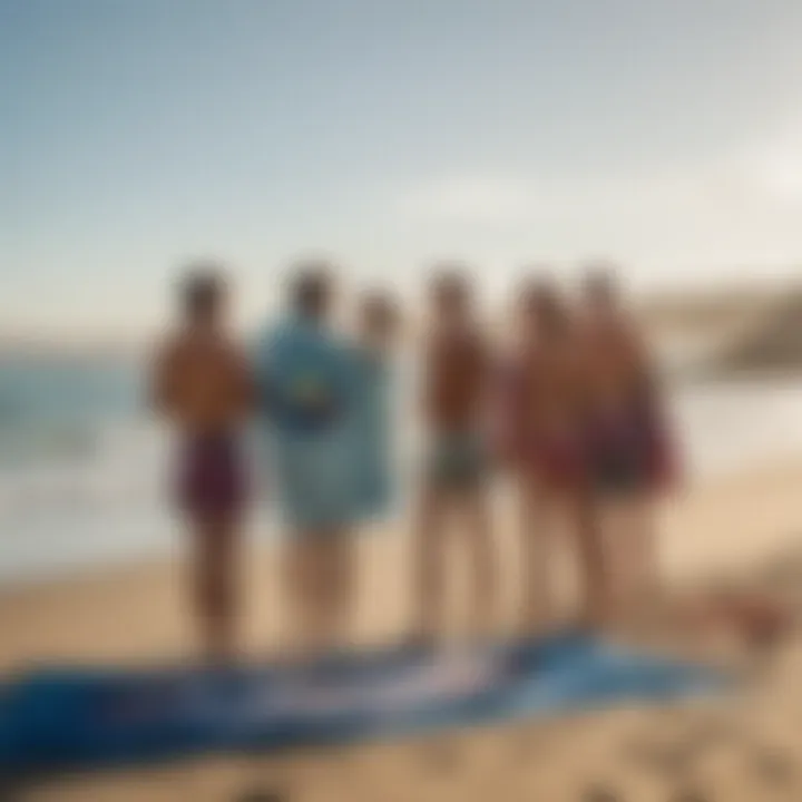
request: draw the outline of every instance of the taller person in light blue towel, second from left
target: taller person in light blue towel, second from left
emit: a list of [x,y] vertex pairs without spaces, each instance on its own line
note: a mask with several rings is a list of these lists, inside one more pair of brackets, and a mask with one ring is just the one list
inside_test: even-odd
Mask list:
[[335,281],[327,263],[296,266],[283,320],[260,338],[261,419],[288,528],[283,577],[291,652],[312,655],[348,640],[354,595],[351,534],[361,517],[354,482],[351,346],[330,320]]

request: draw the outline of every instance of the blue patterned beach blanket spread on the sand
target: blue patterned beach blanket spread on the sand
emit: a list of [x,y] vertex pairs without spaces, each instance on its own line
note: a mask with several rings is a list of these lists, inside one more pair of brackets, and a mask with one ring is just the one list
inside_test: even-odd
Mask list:
[[293,667],[51,668],[0,693],[0,774],[276,751],[712,692],[724,677],[564,633],[453,652],[391,648]]

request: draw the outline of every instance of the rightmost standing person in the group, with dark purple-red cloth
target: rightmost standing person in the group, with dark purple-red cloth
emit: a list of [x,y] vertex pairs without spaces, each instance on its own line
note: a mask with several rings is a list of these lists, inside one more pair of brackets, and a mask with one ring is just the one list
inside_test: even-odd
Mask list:
[[653,501],[675,467],[654,365],[609,268],[591,267],[581,295],[589,492],[617,617],[658,589]]

